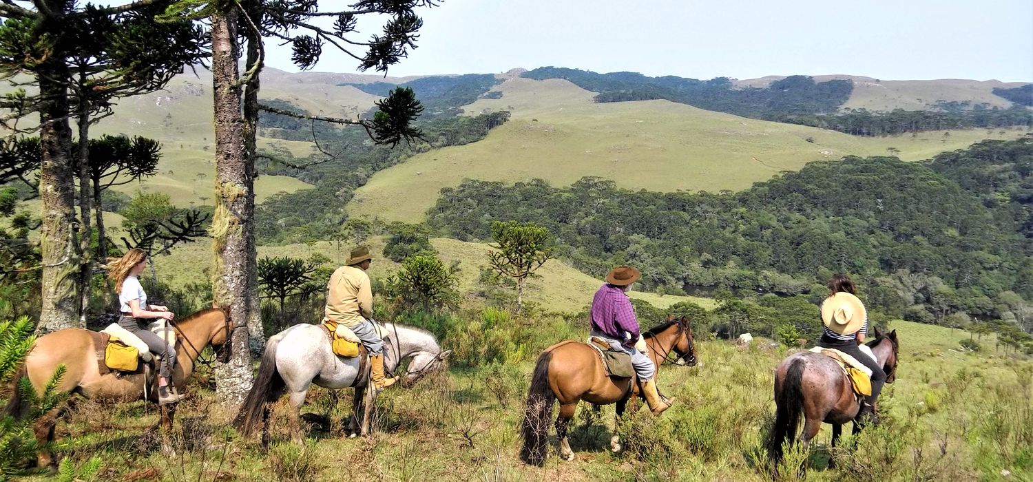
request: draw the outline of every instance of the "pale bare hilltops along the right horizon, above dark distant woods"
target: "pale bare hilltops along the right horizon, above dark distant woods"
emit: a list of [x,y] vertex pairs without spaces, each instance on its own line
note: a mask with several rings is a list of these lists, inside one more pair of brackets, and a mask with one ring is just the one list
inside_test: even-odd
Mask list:
[[[737,86],[764,87],[783,78],[769,75],[760,78],[737,81]],[[1003,83],[999,81],[967,81],[940,78],[933,81],[881,81],[858,75],[815,75],[817,82],[839,78],[853,81],[853,92],[842,108],[867,108],[869,110],[924,110],[935,107],[937,102],[965,102],[972,105],[987,103],[994,107],[1008,107],[1011,102],[994,95],[994,88],[1012,88],[1026,83]]]

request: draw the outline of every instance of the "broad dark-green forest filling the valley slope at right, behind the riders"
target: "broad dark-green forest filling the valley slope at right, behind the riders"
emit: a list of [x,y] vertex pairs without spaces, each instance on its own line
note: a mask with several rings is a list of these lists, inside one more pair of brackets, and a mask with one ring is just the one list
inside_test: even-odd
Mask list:
[[1031,172],[1026,137],[922,163],[815,162],[739,193],[629,191],[597,178],[563,188],[467,181],[442,190],[430,223],[482,240],[493,221],[535,222],[577,268],[600,276],[632,263],[661,292],[791,296],[821,292],[844,271],[889,316],[1001,318],[1030,329]]

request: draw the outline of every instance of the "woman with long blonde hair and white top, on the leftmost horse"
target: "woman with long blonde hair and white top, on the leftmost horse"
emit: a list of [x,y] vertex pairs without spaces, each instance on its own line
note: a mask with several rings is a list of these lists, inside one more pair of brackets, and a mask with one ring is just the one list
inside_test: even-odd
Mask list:
[[107,263],[107,277],[115,282],[115,290],[119,293],[122,312],[119,326],[138,336],[152,353],[161,355],[161,365],[158,367],[158,403],[173,404],[183,397],[175,393],[176,387],[171,384],[176,350],[161,336],[142,328],[140,323],[150,323],[156,318],[171,322],[176,315],[165,307],[147,303],[147,293],[136,278],[145,267],[147,252],[134,248],[121,258],[112,258]]

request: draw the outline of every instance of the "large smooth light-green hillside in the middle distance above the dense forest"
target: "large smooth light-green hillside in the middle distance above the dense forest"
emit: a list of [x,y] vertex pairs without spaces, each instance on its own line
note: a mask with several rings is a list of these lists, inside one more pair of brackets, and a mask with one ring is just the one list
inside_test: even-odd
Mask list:
[[540,178],[566,185],[597,175],[630,189],[738,190],[814,160],[886,155],[887,148],[899,149],[902,159],[918,160],[983,138],[1022,133],[979,130],[855,137],[664,100],[593,103],[591,92],[560,79],[513,78],[494,90],[502,92],[502,98],[480,99],[467,111],[509,109],[509,122],[481,141],[420,154],[378,172],[356,191],[349,213],[416,221],[441,188],[457,186],[463,179]]

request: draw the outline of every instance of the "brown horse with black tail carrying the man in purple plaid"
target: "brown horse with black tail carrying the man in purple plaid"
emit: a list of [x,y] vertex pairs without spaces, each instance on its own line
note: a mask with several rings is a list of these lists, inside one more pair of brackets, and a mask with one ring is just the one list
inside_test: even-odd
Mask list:
[[[649,347],[649,357],[657,367],[661,362],[696,364],[692,327],[685,317],[678,321],[668,319],[643,333],[643,336]],[[670,358],[671,352],[675,352],[674,358]],[[524,406],[521,459],[534,465],[545,462],[549,421],[555,400],[560,403],[560,414],[556,418],[560,456],[572,460],[574,453],[567,441],[567,424],[574,416],[577,403],[584,399],[596,406],[617,404],[619,420],[628,400],[637,392],[635,385],[634,378],[607,377],[599,352],[587,344],[568,341],[546,348],[538,355]],[[620,439],[616,435],[609,444],[615,452],[621,450]]]

